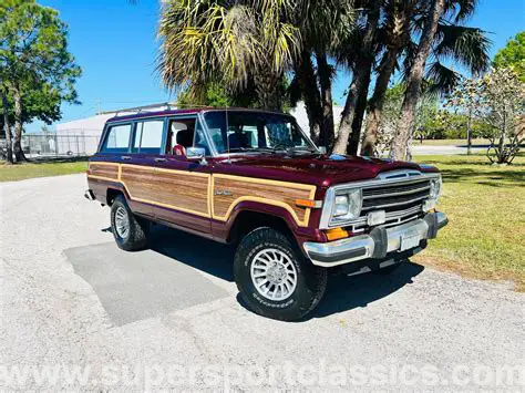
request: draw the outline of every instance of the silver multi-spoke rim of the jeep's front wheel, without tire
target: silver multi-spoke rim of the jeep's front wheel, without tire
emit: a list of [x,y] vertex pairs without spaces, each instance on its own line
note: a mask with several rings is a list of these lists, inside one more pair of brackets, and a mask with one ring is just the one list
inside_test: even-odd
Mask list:
[[257,292],[274,301],[289,298],[297,286],[294,262],[276,248],[264,249],[255,256],[250,276]]

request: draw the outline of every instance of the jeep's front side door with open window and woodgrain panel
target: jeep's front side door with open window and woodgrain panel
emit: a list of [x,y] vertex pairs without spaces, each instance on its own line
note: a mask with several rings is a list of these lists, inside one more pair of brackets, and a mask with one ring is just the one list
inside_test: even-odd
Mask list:
[[155,218],[208,235],[210,166],[185,154],[194,146],[209,154],[197,116],[168,118],[164,137],[164,151],[155,159]]

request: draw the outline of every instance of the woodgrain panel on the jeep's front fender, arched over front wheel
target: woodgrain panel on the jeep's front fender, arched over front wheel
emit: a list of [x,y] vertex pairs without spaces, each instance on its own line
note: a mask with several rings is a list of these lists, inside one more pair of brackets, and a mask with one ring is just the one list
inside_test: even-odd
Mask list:
[[[315,186],[227,175],[214,176],[213,184],[215,219],[227,220],[235,205],[253,200],[284,207],[290,211],[299,226],[308,226],[310,209],[297,206],[296,199],[312,199]],[[228,195],[224,195],[225,192]]]

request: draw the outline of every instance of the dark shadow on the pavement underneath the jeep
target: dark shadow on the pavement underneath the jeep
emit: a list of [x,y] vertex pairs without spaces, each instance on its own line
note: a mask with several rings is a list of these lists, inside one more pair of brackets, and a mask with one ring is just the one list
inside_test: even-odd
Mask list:
[[[162,225],[153,226],[152,235],[152,250],[225,281],[234,282],[234,247]],[[340,270],[338,273],[336,270],[329,270],[325,297],[308,319],[367,307],[411,283],[412,278],[421,273],[423,269],[420,265],[405,262],[389,276],[372,273],[347,276]],[[248,309],[240,296],[237,296],[237,301]]]

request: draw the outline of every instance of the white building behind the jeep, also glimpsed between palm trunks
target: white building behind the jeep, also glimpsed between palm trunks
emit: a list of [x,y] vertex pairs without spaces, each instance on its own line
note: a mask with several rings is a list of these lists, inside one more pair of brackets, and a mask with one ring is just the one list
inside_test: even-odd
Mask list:
[[[56,153],[69,154],[69,152],[71,152],[74,155],[92,155],[96,152],[104,124],[109,118],[114,117],[116,114],[124,114],[125,112],[132,111],[162,111],[167,106],[167,103],[158,103],[123,108],[56,124]],[[342,106],[333,106],[333,117],[336,123],[339,121],[342,110]],[[305,132],[309,133],[310,127],[308,124],[308,114],[306,112],[305,103],[299,102],[297,106],[290,111],[290,114],[297,118],[299,126],[305,130]]]

